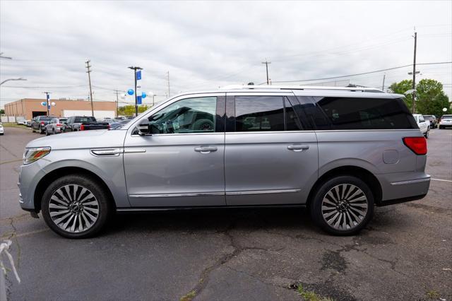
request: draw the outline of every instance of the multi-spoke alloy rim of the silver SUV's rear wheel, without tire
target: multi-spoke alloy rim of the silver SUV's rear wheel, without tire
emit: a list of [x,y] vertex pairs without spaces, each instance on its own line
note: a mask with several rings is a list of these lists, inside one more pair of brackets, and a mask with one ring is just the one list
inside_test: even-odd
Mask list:
[[323,219],[332,228],[350,230],[367,214],[367,197],[352,184],[340,184],[328,191],[322,201]]

